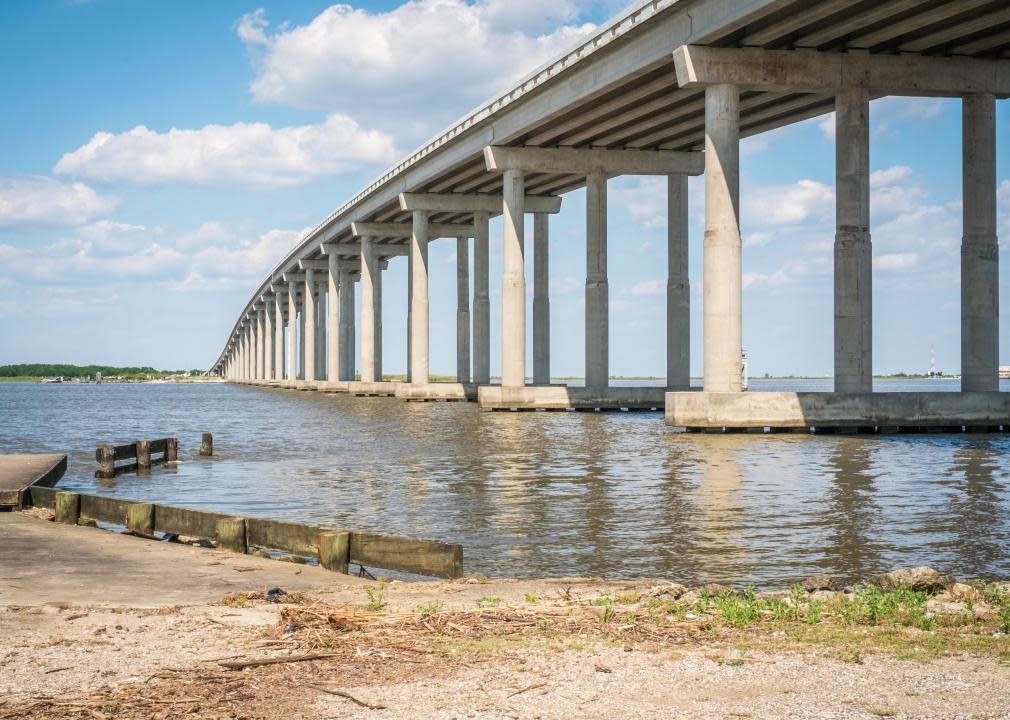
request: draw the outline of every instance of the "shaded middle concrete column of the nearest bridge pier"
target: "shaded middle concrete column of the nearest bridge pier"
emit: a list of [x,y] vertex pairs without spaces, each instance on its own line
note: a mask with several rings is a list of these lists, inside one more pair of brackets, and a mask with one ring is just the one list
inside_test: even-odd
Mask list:
[[870,94],[835,97],[834,391],[873,391]]

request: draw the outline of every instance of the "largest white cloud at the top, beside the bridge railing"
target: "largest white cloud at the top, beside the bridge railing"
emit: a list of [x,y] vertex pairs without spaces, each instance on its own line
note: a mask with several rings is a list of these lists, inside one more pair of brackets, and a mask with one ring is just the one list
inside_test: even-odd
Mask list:
[[589,32],[593,25],[578,23],[586,4],[410,0],[378,13],[339,4],[308,24],[276,28],[261,9],[241,18],[237,33],[254,59],[257,100],[354,107],[356,116],[401,131],[413,121],[416,132],[504,90]]

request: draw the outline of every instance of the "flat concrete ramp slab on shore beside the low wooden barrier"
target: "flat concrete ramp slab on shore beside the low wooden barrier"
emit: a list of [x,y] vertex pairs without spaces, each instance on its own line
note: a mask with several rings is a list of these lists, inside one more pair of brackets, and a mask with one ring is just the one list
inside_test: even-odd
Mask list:
[[0,606],[162,607],[228,593],[313,592],[364,583],[318,567],[280,562],[0,513]]

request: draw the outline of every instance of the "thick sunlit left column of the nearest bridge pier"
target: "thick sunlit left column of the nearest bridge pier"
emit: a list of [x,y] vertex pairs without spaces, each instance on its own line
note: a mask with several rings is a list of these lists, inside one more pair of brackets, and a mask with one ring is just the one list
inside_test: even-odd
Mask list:
[[705,89],[705,390],[742,390],[740,110],[733,85]]

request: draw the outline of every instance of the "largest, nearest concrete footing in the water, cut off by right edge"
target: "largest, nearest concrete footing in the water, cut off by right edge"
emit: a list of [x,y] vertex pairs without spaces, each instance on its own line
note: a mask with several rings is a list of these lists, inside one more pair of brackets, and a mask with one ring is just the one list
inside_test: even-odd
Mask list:
[[666,416],[703,431],[999,432],[1010,393],[667,393]]

